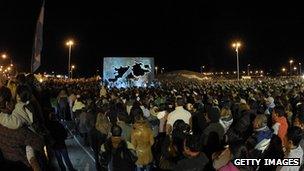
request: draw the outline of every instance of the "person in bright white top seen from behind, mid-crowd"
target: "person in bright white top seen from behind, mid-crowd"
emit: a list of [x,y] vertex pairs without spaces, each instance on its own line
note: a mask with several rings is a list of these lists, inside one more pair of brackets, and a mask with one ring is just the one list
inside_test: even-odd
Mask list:
[[175,110],[169,113],[167,118],[166,132],[170,134],[172,132],[172,127],[175,121],[181,119],[185,123],[190,123],[191,113],[183,108],[184,99],[182,97],[177,97],[175,102]]

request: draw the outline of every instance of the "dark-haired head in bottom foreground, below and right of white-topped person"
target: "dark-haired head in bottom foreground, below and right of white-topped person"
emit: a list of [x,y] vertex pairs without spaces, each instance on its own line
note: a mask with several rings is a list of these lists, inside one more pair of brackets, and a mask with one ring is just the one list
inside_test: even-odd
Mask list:
[[200,137],[196,135],[188,135],[184,141],[184,152],[189,156],[196,156],[201,150]]

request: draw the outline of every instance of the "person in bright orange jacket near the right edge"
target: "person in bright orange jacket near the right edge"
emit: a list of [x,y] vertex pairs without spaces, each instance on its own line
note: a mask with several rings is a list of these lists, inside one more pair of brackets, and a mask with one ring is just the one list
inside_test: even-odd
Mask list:
[[274,134],[278,135],[281,138],[283,144],[286,144],[285,136],[288,129],[288,122],[285,117],[285,110],[283,106],[276,106],[273,108],[272,120],[274,123],[272,126]]

